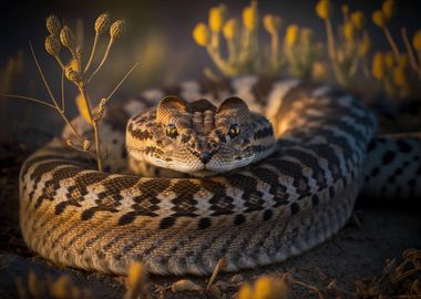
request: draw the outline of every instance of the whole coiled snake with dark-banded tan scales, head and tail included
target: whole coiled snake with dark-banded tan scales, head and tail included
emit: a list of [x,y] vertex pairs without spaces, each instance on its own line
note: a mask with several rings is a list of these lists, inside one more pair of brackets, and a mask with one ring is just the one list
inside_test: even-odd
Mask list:
[[[215,106],[167,97],[157,112],[145,112],[145,105],[156,105],[166,94],[208,99]],[[265,114],[273,127],[236,97],[220,104],[232,95]],[[85,154],[59,138],[25,161],[20,225],[28,246],[42,257],[117,275],[135,260],[154,274],[204,275],[224,257],[226,270],[235,271],[281,261],[332,236],[350,217],[364,181],[380,196],[421,194],[420,141],[370,143],[371,112],[332,87],[245,76],[218,84],[186,82],[141,97],[109,111],[102,126],[107,172],[94,171]],[[130,116],[132,155],[194,169],[198,177],[122,174]],[[89,127],[80,117],[74,124]],[[69,130],[63,137],[71,137]],[[137,162],[131,161],[136,169]],[[229,172],[215,174],[218,169]],[[214,175],[205,176],[209,172]]]

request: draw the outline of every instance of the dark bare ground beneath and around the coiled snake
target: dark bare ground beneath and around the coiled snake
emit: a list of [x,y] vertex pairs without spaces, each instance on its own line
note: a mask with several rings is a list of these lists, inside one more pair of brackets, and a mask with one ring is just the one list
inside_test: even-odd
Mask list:
[[[28,151],[16,143],[4,143],[0,150],[0,298],[18,297],[17,279],[27,280],[32,270],[40,283],[68,275],[75,286],[89,289],[93,298],[123,298],[125,278],[61,268],[30,252],[19,230],[18,174]],[[216,285],[220,298],[232,298],[238,286],[260,275],[290,271],[294,280],[326,288],[337,279],[342,298],[352,297],[356,281],[380,276],[386,260],[399,257],[408,248],[421,248],[421,209],[402,203],[371,203],[359,198],[355,217],[333,238],[285,262],[256,270],[222,274]],[[201,292],[174,293],[171,285],[179,277],[150,278],[153,298],[213,298]],[[206,286],[208,277],[188,277]],[[318,298],[311,289],[295,285],[294,298]],[[164,296],[164,297],[160,297]],[[332,296],[336,297],[336,296]]]

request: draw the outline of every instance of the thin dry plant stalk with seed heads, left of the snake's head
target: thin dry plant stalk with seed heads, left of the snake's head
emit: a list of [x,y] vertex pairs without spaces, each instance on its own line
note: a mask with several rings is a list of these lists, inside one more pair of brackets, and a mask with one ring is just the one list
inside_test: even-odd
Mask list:
[[[52,103],[48,103],[45,101],[41,101],[34,97],[16,95],[16,94],[3,94],[3,96],[29,100],[29,101],[43,104],[51,109],[54,109],[60,114],[64,123],[71,127],[79,143],[79,144],[73,144],[70,140],[68,140],[66,144],[76,151],[84,152],[91,155],[92,157],[94,157],[96,159],[97,169],[102,172],[104,154],[103,154],[103,151],[101,150],[100,122],[103,118],[103,115],[105,112],[105,105],[111,99],[111,96],[115,93],[115,91],[120,87],[120,85],[127,79],[127,76],[138,65],[138,63],[135,63],[130,69],[130,71],[119,82],[116,87],[111,92],[109,96],[101,99],[97,103],[95,103],[95,105],[92,103],[89,96],[88,86],[90,82],[93,80],[93,78],[96,75],[96,73],[103,68],[115,41],[124,34],[124,31],[125,31],[124,20],[117,20],[110,25],[109,13],[102,13],[96,19],[95,24],[94,24],[95,38],[94,38],[89,61],[84,68],[82,68],[82,56],[83,56],[82,45],[78,44],[72,29],[68,25],[62,27],[59,19],[55,16],[50,16],[47,19],[45,25],[47,25],[47,30],[50,33],[50,35],[47,37],[45,39],[45,43],[44,43],[45,51],[55,59],[55,61],[58,62],[58,64],[60,65],[62,70],[61,104],[59,104],[59,102],[54,97],[45,80],[45,76],[38,62],[37,55],[33,51],[32,44],[30,44],[30,48],[31,48],[33,60],[37,64],[37,68],[42,78],[44,86],[48,90],[48,93],[51,97]],[[110,32],[106,51],[102,56],[101,63],[90,74],[89,70],[90,70],[90,66],[92,65],[92,61],[95,55],[96,45],[97,45],[100,35],[104,34],[106,31]],[[72,56],[70,63],[68,64],[63,63],[62,59],[60,58],[60,52],[61,52],[62,47],[66,48]],[[80,133],[78,133],[75,127],[71,124],[71,122],[65,115],[64,78],[69,80],[70,82],[72,82],[76,86],[80,93],[82,101],[78,102],[78,107],[81,115],[84,116],[84,118],[92,125],[92,128],[94,132],[94,144],[95,144],[94,151],[91,151],[91,141],[84,138]]]

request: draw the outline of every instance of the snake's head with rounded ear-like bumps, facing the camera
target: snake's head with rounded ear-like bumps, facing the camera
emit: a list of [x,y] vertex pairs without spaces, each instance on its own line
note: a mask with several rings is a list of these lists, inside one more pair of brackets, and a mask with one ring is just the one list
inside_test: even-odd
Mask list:
[[126,130],[132,157],[196,176],[246,166],[274,145],[270,123],[236,96],[218,107],[204,99],[189,103],[166,96],[156,110],[132,117]]

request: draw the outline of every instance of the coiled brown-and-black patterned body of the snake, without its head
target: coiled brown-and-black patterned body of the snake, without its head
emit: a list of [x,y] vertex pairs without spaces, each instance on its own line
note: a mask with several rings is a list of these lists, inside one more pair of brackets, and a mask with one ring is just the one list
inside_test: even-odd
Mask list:
[[[222,257],[229,271],[281,261],[345,225],[376,126],[359,101],[295,81],[263,87],[257,78],[207,91],[191,82],[177,93],[244,99],[280,136],[274,153],[223,175],[140,177],[93,171],[84,154],[54,140],[27,159],[20,175],[20,224],[32,250],[85,270],[124,275],[142,260],[154,274],[204,275]],[[110,138],[124,136],[113,125],[104,130]]]

